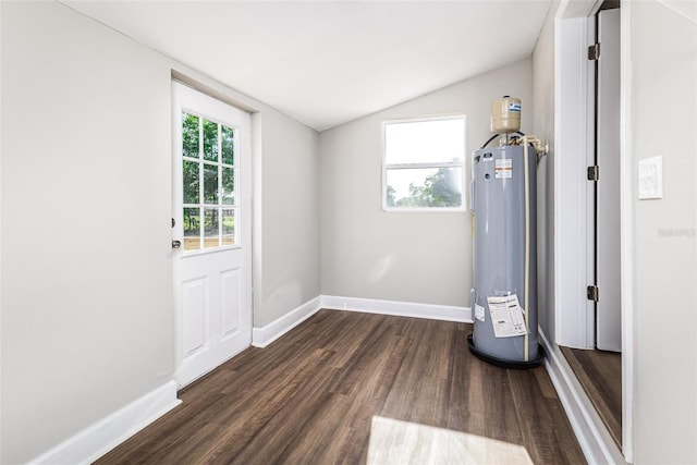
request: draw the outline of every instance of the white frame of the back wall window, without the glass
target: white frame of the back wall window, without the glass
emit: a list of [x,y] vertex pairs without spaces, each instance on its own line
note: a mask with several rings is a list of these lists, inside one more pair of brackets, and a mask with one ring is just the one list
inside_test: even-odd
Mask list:
[[[401,123],[418,123],[430,121],[445,121],[445,120],[462,120],[464,125],[463,131],[463,154],[462,161],[429,161],[429,162],[409,162],[409,163],[388,163],[387,162],[387,126],[389,124]],[[416,117],[416,118],[402,118],[394,120],[383,120],[381,124],[381,210],[386,212],[443,212],[443,211],[467,211],[466,201],[466,154],[467,154],[467,117],[464,113],[449,113],[439,114],[432,117]],[[461,205],[458,207],[391,207],[388,206],[388,171],[394,169],[438,169],[438,168],[460,168],[462,175],[460,179],[460,186],[462,189]]]

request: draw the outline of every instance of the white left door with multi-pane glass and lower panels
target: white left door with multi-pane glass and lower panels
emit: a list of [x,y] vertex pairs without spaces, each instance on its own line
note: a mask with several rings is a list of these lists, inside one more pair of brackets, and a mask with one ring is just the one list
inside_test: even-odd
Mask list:
[[172,101],[174,378],[183,387],[252,343],[250,118],[178,82]]

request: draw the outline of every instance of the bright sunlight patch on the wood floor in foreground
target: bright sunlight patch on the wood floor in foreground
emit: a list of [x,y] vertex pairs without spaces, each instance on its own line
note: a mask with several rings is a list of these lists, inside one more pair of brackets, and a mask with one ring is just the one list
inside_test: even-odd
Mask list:
[[518,444],[374,416],[368,465],[390,464],[531,465],[533,460]]

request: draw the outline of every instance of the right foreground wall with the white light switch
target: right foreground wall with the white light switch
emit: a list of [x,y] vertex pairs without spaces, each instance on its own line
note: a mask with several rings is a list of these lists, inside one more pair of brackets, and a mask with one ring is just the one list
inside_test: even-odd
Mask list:
[[[697,463],[697,14],[629,12],[634,460]],[[657,155],[663,199],[638,200],[637,163]]]

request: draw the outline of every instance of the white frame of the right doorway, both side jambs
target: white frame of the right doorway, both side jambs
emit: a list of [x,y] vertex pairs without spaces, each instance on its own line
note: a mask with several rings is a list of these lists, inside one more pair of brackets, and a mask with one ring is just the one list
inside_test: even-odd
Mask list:
[[[568,50],[586,47],[588,37],[587,23],[592,23],[602,0],[562,0],[554,20],[554,342],[560,345],[574,346],[573,342],[588,346],[588,318],[584,305],[587,299],[584,290],[587,285],[587,261],[579,253],[579,234],[586,230],[587,209],[585,204],[585,176],[576,175],[578,167],[585,170],[582,159],[588,156],[588,139],[582,138],[592,130],[588,123],[588,77],[578,72],[576,77],[568,77],[561,72],[564,65],[583,70],[583,54],[575,62],[570,61]],[[633,320],[633,191],[632,191],[632,62],[631,62],[631,8],[628,0],[621,1],[620,10],[620,48],[621,48],[621,103],[620,103],[620,216],[621,216],[621,295],[622,295],[622,454],[632,463],[634,456],[634,320]],[[595,93],[595,89],[594,89]],[[571,137],[571,138],[566,138]],[[585,149],[583,156],[571,144],[576,142]],[[571,158],[576,152],[577,156]],[[580,172],[583,173],[583,171]],[[562,182],[562,180],[564,182]],[[571,184],[567,183],[571,182]],[[562,188],[563,186],[563,188]],[[570,194],[571,191],[571,194]],[[570,235],[565,233],[570,225],[576,230]],[[587,241],[582,244],[588,244]],[[584,272],[574,272],[580,267]],[[570,270],[572,268],[572,270]],[[580,323],[580,330],[578,325]],[[591,325],[592,329],[592,325]],[[572,342],[570,344],[570,342]],[[589,346],[592,346],[590,344]],[[568,374],[573,376],[573,374]],[[600,425],[601,428],[604,428]]]

